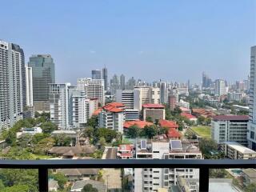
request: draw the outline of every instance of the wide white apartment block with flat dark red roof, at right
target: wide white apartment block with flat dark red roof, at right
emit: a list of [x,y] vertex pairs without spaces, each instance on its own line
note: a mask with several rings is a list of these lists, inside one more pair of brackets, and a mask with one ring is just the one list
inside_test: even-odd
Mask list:
[[247,115],[217,115],[211,121],[211,138],[217,143],[238,142],[247,146]]

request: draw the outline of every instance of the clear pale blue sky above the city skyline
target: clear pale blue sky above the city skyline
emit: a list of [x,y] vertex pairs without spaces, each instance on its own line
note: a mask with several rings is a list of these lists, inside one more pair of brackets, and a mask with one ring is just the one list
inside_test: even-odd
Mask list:
[[[126,80],[228,81],[250,72],[255,0],[2,1],[0,39],[51,54],[57,82],[106,66]],[[110,79],[109,77],[109,79]]]

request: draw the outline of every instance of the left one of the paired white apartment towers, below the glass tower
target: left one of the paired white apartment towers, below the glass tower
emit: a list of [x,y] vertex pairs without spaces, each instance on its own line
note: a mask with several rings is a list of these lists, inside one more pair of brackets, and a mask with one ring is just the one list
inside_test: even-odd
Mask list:
[[50,84],[50,121],[59,129],[70,129],[69,87],[70,83]]

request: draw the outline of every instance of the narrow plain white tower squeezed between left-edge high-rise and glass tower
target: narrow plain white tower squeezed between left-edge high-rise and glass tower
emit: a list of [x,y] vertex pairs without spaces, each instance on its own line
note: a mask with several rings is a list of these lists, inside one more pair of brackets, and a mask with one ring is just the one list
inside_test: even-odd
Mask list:
[[32,67],[26,66],[26,106],[33,106]]

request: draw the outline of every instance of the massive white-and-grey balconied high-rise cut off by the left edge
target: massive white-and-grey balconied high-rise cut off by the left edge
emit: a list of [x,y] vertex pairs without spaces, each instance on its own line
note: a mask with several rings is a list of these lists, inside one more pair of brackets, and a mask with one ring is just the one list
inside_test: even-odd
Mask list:
[[0,131],[22,119],[26,70],[20,46],[0,40]]

